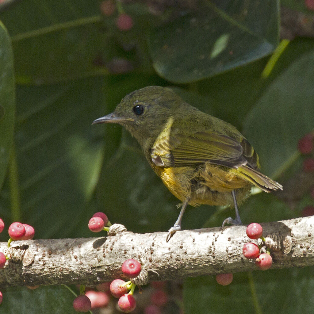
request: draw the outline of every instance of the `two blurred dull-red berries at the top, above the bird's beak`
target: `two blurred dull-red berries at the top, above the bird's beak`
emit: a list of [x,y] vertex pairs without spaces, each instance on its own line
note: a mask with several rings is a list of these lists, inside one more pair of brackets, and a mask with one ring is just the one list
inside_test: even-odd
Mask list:
[[111,16],[114,12],[118,11],[118,17],[116,19],[116,27],[118,30],[127,31],[133,27],[133,19],[130,15],[125,14],[120,3],[115,4],[112,0],[105,0],[100,3],[100,12],[103,15]]

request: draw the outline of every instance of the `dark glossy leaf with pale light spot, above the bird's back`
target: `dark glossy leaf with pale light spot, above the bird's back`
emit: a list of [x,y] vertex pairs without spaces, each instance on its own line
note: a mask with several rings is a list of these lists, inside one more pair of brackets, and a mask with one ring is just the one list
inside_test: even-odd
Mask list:
[[277,39],[277,1],[217,1],[151,30],[148,46],[156,72],[184,84],[262,58]]

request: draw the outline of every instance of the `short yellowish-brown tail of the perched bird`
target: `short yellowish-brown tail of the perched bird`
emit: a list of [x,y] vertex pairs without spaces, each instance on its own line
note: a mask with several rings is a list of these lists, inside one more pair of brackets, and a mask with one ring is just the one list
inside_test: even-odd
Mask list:
[[265,192],[271,192],[277,189],[282,190],[281,184],[247,165],[243,165],[237,169],[237,176],[251,182]]

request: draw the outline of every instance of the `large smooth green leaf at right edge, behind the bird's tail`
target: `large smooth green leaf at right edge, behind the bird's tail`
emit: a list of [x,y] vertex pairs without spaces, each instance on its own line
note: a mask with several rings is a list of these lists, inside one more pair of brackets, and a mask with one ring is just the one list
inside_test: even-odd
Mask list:
[[314,130],[314,52],[280,74],[247,115],[244,135],[260,157],[262,171],[276,178],[299,156],[298,140]]

